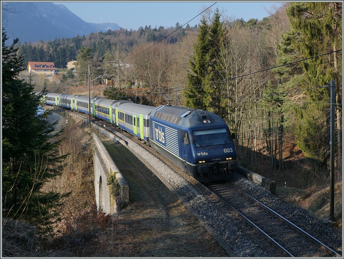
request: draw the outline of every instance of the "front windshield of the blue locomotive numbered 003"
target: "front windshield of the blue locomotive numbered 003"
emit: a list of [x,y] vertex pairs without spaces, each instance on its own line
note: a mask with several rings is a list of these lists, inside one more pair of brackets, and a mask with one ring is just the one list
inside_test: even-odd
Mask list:
[[196,147],[224,145],[229,143],[226,128],[194,130]]

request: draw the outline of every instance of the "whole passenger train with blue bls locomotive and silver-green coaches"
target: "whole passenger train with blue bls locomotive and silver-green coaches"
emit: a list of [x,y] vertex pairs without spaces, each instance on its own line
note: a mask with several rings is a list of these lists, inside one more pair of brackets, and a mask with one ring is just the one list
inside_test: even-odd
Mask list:
[[234,133],[212,112],[151,107],[104,97],[45,93],[43,103],[89,113],[131,133],[200,182],[230,179],[238,168]]

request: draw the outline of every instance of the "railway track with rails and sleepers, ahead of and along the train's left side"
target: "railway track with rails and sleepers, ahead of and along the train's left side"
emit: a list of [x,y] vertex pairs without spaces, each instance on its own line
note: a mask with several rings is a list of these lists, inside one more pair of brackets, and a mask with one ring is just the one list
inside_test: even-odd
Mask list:
[[[162,161],[169,164],[179,174],[184,175],[182,170],[171,164],[154,150],[148,148],[139,139],[131,134],[110,125],[106,121],[96,121],[100,127],[106,124],[106,129],[124,133],[124,135],[150,153],[158,156]],[[192,179],[194,182],[195,180]],[[321,241],[312,237],[293,223],[273,212],[270,208],[260,203],[250,195],[239,190],[229,182],[199,183],[199,186],[206,190],[214,203],[221,203],[237,215],[238,223],[245,227],[248,233],[252,234],[255,242],[266,249],[274,257],[342,257],[338,252],[324,245]]]

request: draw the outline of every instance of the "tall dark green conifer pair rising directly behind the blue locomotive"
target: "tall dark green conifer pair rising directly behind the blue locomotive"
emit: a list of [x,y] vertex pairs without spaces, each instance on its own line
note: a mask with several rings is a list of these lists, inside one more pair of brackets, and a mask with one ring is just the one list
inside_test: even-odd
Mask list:
[[[216,9],[211,24],[202,19],[197,43],[194,45],[193,59],[189,61],[190,72],[187,73],[187,88],[184,91],[187,107],[205,109],[224,118],[226,103],[223,97],[223,84],[212,82],[226,78],[223,72],[223,60],[220,52],[225,41],[221,14]],[[200,87],[197,87],[200,86]]]

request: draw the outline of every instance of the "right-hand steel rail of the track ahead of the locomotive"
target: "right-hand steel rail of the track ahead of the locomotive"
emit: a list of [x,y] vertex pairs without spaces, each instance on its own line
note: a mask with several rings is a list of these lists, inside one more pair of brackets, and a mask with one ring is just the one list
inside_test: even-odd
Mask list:
[[276,212],[272,211],[272,209],[270,209],[269,207],[267,207],[266,205],[262,204],[261,202],[257,201],[255,198],[253,198],[252,196],[248,195],[247,193],[245,193],[244,191],[240,190],[239,188],[235,187],[233,184],[229,183],[226,180],[227,184],[234,188],[234,190],[238,191],[239,193],[245,195],[247,198],[249,198],[252,202],[257,203],[259,206],[263,207],[266,211],[268,211],[269,213],[271,213],[272,215],[276,216],[278,219],[280,219],[282,222],[288,224],[289,226],[291,226],[295,231],[297,231],[298,233],[300,233],[302,236],[308,238],[309,240],[311,240],[312,242],[314,242],[316,245],[318,245],[320,248],[324,249],[325,251],[327,251],[330,255],[332,256],[336,256],[336,257],[342,257],[340,254],[338,254],[337,252],[335,252],[334,250],[332,250],[331,248],[329,248],[328,246],[324,245],[322,242],[320,242],[318,239],[315,239],[314,237],[312,237],[311,235],[309,235],[307,232],[305,232],[304,230],[302,230],[301,228],[295,226],[293,223],[291,223],[288,219],[282,217],[281,215],[277,214]]

